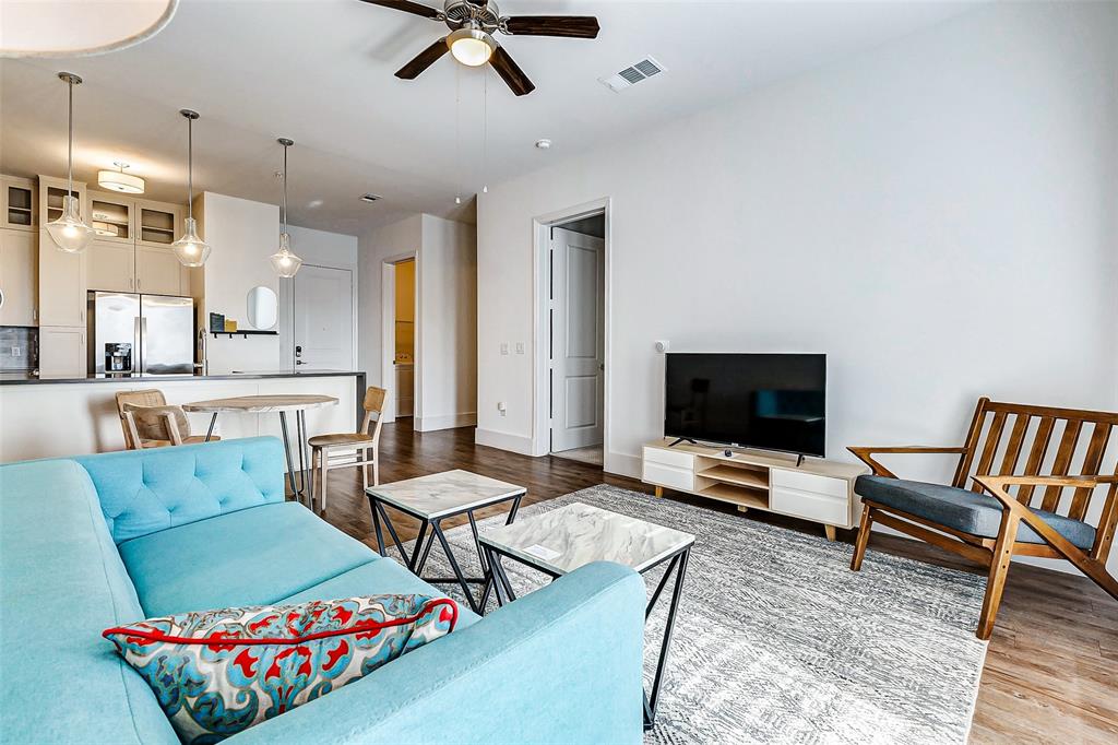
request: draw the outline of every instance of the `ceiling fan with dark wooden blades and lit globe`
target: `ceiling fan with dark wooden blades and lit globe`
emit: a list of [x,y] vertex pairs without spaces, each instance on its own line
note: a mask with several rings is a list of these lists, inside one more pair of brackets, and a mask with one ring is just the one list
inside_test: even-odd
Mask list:
[[593,16],[502,16],[490,0],[446,0],[443,10],[411,0],[362,0],[373,6],[402,10],[432,20],[442,21],[451,34],[420,51],[415,59],[401,67],[396,77],[415,79],[443,55],[449,51],[463,65],[493,66],[518,96],[536,89],[524,70],[513,62],[493,34],[510,36],[560,36],[575,39],[594,39],[598,36],[598,19]]

